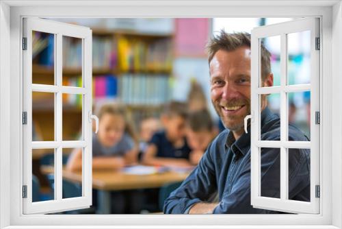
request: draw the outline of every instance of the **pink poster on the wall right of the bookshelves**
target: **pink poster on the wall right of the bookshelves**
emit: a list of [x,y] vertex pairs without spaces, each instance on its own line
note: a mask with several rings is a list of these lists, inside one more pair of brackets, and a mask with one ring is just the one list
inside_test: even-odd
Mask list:
[[176,19],[176,56],[206,57],[209,19]]

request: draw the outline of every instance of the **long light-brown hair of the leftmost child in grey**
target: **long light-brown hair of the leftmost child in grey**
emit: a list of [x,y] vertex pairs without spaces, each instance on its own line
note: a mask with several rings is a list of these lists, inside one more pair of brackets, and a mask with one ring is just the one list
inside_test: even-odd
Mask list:
[[131,121],[127,118],[126,107],[121,104],[105,104],[101,106],[100,110],[97,112],[97,117],[99,120],[103,117],[103,115],[120,115],[124,118],[124,132],[127,132],[131,138],[137,143],[137,135],[135,134],[133,125],[131,125]]

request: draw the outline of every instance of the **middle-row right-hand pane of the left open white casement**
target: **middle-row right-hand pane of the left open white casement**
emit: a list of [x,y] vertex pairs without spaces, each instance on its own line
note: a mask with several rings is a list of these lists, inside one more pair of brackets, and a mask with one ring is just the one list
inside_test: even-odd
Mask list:
[[83,140],[82,137],[83,95],[63,94],[62,135],[64,141]]

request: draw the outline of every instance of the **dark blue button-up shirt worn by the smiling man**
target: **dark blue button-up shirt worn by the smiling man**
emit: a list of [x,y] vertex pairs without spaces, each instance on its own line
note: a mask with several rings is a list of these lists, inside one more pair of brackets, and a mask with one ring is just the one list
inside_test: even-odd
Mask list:
[[[280,119],[268,108],[261,112],[261,140],[280,141]],[[308,138],[289,125],[289,141]],[[250,204],[250,131],[237,141],[233,132],[221,132],[194,171],[166,199],[163,211],[187,213],[192,205],[210,202],[216,195],[216,214],[278,213]],[[280,149],[261,148],[261,196],[280,197]],[[309,149],[289,149],[289,200],[310,201]]]

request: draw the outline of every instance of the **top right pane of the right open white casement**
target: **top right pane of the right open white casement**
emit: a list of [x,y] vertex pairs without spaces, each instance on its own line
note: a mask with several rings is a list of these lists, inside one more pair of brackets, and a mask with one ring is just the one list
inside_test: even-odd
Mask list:
[[287,84],[310,83],[310,31],[287,34]]

